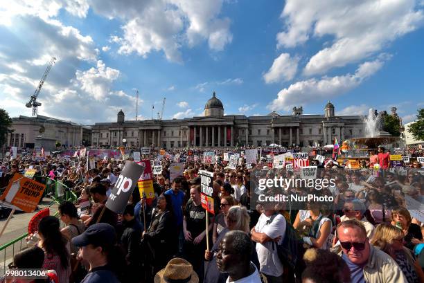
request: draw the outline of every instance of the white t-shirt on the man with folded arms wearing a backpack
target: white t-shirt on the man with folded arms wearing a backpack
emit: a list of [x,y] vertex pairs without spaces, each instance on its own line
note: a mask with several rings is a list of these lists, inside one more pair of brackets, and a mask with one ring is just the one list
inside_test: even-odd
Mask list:
[[[281,236],[278,244],[281,244],[285,235],[287,223],[281,214],[277,214],[271,223],[265,214],[260,214],[258,223],[256,223],[256,232],[265,233],[268,237],[275,239]],[[277,253],[276,245],[272,241],[267,241],[265,244],[256,244],[256,253],[260,264],[260,272],[271,276],[281,276],[283,274],[283,264],[281,264]]]

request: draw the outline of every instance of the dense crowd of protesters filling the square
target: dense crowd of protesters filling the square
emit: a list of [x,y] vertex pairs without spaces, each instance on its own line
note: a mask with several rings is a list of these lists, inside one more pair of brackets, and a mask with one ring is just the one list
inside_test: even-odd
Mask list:
[[[184,160],[184,173],[171,180],[173,154]],[[188,150],[161,156],[154,199],[135,188],[122,214],[104,207],[123,160],[104,158],[89,170],[80,158],[4,160],[0,187],[33,166],[33,179],[61,181],[78,196],[75,203],[60,203],[58,218],[39,222],[37,235],[28,236],[30,248],[17,253],[10,268],[46,268],[53,271],[47,280],[60,283],[424,282],[422,210],[409,206],[411,200],[423,203],[418,161],[390,168],[381,149],[360,170],[310,158],[318,167],[315,178],[333,183],[319,190],[294,182],[258,190],[260,179],[299,176],[260,161],[229,168],[224,152],[215,154],[213,164],[186,158]],[[158,155],[151,152],[152,164]],[[202,207],[200,170],[213,172],[214,214]],[[260,194],[333,201],[292,206],[261,201]]]

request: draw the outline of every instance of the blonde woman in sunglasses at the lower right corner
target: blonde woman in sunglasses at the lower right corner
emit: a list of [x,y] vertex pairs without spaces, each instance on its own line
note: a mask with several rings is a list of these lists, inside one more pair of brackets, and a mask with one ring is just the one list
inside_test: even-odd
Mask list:
[[390,255],[407,278],[408,283],[424,281],[424,273],[411,251],[403,246],[404,233],[400,228],[382,223],[376,228],[371,244]]

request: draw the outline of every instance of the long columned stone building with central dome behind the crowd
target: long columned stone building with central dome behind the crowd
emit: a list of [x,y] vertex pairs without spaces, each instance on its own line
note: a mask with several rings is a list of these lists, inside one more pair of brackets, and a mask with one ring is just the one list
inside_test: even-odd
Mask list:
[[99,122],[92,129],[94,146],[120,146],[125,140],[130,147],[254,147],[272,143],[285,147],[328,145],[334,138],[364,136],[362,116],[336,116],[328,102],[324,115],[304,115],[302,107],[294,107],[292,115],[273,111],[267,116],[225,115],[222,102],[215,93],[204,107],[204,116],[172,120],[125,121],[123,111],[116,122]]

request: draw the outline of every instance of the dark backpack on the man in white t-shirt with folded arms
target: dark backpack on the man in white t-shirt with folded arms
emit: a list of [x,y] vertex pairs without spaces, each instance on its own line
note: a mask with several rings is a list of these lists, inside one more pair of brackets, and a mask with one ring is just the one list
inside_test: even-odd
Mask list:
[[[272,215],[270,223],[276,216],[277,214]],[[281,244],[273,242],[273,248],[277,249],[279,259],[283,266],[288,268],[289,274],[296,274],[296,277],[300,278],[303,269],[306,267],[303,262],[303,254],[306,248],[303,247],[303,240],[292,224],[286,221],[285,227],[283,241],[281,241]]]

